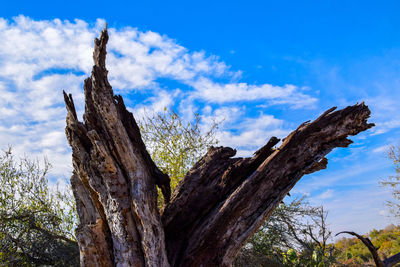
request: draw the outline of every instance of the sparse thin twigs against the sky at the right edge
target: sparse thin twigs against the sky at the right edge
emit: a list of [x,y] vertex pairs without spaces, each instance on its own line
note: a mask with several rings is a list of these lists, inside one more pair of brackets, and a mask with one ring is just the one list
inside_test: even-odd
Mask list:
[[392,214],[395,217],[400,218],[400,146],[392,146],[388,153],[389,158],[393,161],[396,175],[390,176],[388,179],[381,181],[381,184],[385,187],[389,187],[392,190],[394,201],[388,201],[387,204],[390,207]]

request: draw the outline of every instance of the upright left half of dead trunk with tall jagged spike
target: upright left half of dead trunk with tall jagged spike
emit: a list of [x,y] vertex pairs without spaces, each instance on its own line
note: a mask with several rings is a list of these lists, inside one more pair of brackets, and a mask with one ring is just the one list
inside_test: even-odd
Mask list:
[[114,97],[105,68],[107,41],[105,29],[95,40],[95,65],[84,83],[84,123],[77,120],[72,97],[64,93],[81,264],[169,266],[155,189],[162,177],[168,194],[169,178],[151,161],[122,99]]

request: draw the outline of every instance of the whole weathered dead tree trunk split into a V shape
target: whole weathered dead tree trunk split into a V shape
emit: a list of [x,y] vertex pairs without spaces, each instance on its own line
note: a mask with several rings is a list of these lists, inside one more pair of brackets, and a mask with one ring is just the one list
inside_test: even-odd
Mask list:
[[156,185],[169,200],[169,178],[151,160],[135,119],[108,83],[107,40],[107,29],[95,39],[83,123],[64,93],[82,266],[229,266],[304,174],[326,168],[326,154],[373,126],[362,103],[303,123],[279,148],[272,137],[252,158],[211,147],[159,212]]

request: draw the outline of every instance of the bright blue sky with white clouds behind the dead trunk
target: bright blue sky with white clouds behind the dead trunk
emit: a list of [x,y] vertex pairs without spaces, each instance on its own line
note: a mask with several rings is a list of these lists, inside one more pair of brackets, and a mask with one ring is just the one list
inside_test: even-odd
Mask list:
[[[61,90],[82,114],[93,38],[107,21],[111,84],[134,115],[173,108],[223,121],[221,144],[251,155],[331,106],[365,101],[372,130],[293,189],[334,232],[383,228],[400,144],[397,1],[8,1],[0,11],[0,147],[47,155],[69,177]],[[54,178],[55,179],[55,178]]]

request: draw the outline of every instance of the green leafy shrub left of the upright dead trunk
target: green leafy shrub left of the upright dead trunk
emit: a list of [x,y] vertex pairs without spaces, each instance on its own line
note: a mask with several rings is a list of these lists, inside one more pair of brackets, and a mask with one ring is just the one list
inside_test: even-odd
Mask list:
[[[7,266],[78,266],[75,203],[50,189],[44,167],[0,156],[0,263]],[[0,264],[2,265],[2,264]]]

